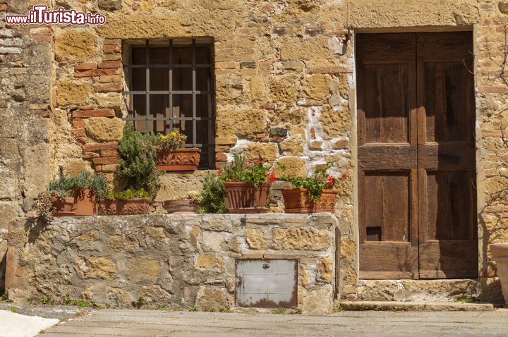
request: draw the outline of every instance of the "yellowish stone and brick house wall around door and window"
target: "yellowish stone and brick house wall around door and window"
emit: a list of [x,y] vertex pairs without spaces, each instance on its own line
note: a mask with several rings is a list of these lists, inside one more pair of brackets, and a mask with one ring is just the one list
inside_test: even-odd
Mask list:
[[[6,13],[28,13],[36,3],[99,12],[107,23],[6,25]],[[126,93],[147,91],[143,81],[151,86],[151,80],[124,67],[149,63],[145,56],[135,59],[135,48],[146,51],[148,43],[153,50],[171,44],[174,53],[193,47],[210,53],[203,56],[198,53],[202,49],[195,49],[182,56],[191,57],[193,65],[200,61],[193,62],[192,55],[210,62],[205,67],[209,72],[198,77],[200,85],[207,85],[198,88],[191,80],[189,89],[190,75],[182,70],[177,74],[181,88],[176,89],[197,96],[194,108],[202,100],[195,114],[210,119],[196,119],[188,112],[192,104],[185,103],[185,94],[171,94],[171,116],[191,116],[191,123],[179,128],[188,128],[192,142],[211,145],[207,162],[195,173],[164,174],[157,202],[200,190],[206,169],[219,168],[236,153],[271,163],[276,173],[275,164],[284,164],[287,173],[299,176],[329,163],[332,173],[348,177],[341,180],[335,212],[337,298],[440,300],[460,295],[500,302],[489,245],[508,239],[507,1],[0,0],[0,11],[0,288],[7,247],[25,245],[23,223],[33,216],[38,193],[59,169],[111,177],[125,118],[138,116],[136,109],[152,114],[150,106],[139,108]],[[468,32],[471,37],[477,273],[454,279],[362,278],[358,37],[423,32]],[[164,51],[163,61],[156,54],[154,63],[167,62]],[[153,82],[155,87],[167,90],[161,81]],[[169,110],[164,99],[152,102],[152,108]],[[140,128],[148,128],[143,123]],[[158,121],[151,127],[169,128]],[[279,190],[286,186],[284,181],[274,184],[272,212],[283,212]]]

